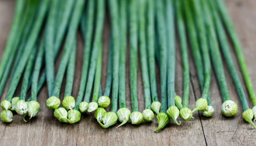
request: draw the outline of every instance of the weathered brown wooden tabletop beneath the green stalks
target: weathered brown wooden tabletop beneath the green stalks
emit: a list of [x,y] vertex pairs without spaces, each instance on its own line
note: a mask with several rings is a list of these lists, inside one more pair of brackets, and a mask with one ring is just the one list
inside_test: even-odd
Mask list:
[[[245,54],[249,74],[253,85],[256,88],[256,1],[226,0],[226,4],[244,48],[243,52]],[[13,9],[14,0],[0,0],[0,54],[4,51],[5,42],[11,26]],[[106,79],[108,39],[109,22],[106,18],[103,32],[103,54],[105,55],[103,55],[102,85],[105,85]],[[182,96],[182,66],[178,43],[176,47],[176,93]],[[82,52],[83,42],[80,35],[78,35],[78,53],[76,56],[76,71],[72,93],[74,97],[76,97],[79,89]],[[233,50],[232,55],[237,70],[239,70]],[[60,57],[58,58],[56,66],[59,65],[59,60]],[[129,64],[127,62],[126,96],[127,106],[131,109],[128,66]],[[200,97],[200,88],[191,55],[190,68],[191,84],[189,107],[192,108],[194,107],[195,100]],[[41,104],[41,110],[35,118],[32,118],[32,120],[25,123],[21,116],[15,114],[12,123],[0,122],[0,145],[256,145],[256,130],[242,119],[242,108],[237,92],[228,71],[225,70],[225,73],[231,99],[238,104],[238,113],[232,118],[226,118],[221,114],[220,106],[222,100],[214,73],[212,73],[210,88],[212,104],[215,109],[214,116],[212,116],[212,118],[204,118],[202,114],[196,112],[193,115],[195,119],[185,122],[181,118],[178,118],[178,120],[181,120],[180,126],[177,126],[171,120],[170,124],[158,133],[154,133],[154,129],[157,127],[156,120],[151,123],[143,122],[138,126],[125,124],[120,128],[115,128],[115,126],[113,126],[108,129],[103,129],[96,122],[93,114],[82,114],[79,123],[60,123],[54,118],[52,110],[49,110],[45,106],[45,100],[48,97],[46,86],[44,86],[38,95],[38,102]],[[157,75],[159,91],[159,72],[157,72]],[[242,80],[240,72],[239,76]],[[5,88],[1,100],[4,99],[6,92],[7,88]],[[18,93],[16,94],[18,95]],[[247,92],[246,96],[248,97]],[[60,97],[63,97],[63,90],[61,91]],[[144,97],[140,68],[138,70],[138,99],[139,110],[142,111],[144,109]],[[249,102],[249,106],[252,107],[251,102]],[[109,110],[109,108],[107,110]]]

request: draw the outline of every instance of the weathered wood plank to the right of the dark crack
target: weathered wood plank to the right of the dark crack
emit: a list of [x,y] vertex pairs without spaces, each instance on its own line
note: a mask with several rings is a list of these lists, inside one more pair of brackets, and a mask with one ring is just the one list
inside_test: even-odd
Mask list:
[[[256,28],[255,28],[255,16],[256,16],[256,3],[254,0],[226,0],[226,5],[234,22],[238,37],[241,40],[245,60],[248,65],[250,77],[253,82],[253,87],[256,87],[256,76],[255,76],[255,41]],[[240,68],[237,63],[237,59],[233,50],[230,46],[232,57],[238,71],[240,80],[242,81],[244,91],[246,93],[249,107],[252,108],[252,103],[246,91],[244,80],[242,78]],[[223,61],[224,58],[223,58]],[[191,61],[192,62],[192,61]],[[199,82],[196,75],[195,66],[191,63],[191,80],[195,91],[195,96],[200,98],[201,92],[199,88]],[[204,117],[200,112],[200,118],[202,119],[202,126],[206,137],[207,145],[255,145],[255,129],[251,124],[245,122],[242,119],[242,106],[239,97],[236,92],[236,88],[232,82],[231,76],[227,70],[227,66],[224,63],[225,75],[227,78],[228,88],[231,100],[235,101],[238,105],[238,112],[233,117],[225,117],[221,114],[221,94],[218,89],[217,80],[212,69],[212,79],[210,87],[210,96],[212,105],[215,109],[214,115],[211,118]],[[198,113],[197,113],[198,114]]]

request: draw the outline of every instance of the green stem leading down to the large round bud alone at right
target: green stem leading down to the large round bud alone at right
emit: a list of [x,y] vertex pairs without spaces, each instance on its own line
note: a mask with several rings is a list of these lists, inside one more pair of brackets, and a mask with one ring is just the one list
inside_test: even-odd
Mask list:
[[[218,48],[218,40],[214,30],[214,24],[211,19],[211,14],[207,9],[207,4],[201,1],[203,4],[203,12],[204,12],[204,19],[205,19],[205,26],[208,31],[208,42],[210,46],[210,54],[212,59],[212,64],[215,70],[215,74],[217,76],[218,86],[221,91],[222,100],[223,102],[226,100],[230,100],[229,89],[227,87],[226,77],[224,73],[224,68],[222,64],[221,54]],[[194,2],[197,5],[197,2]],[[202,8],[202,6],[198,6],[197,8]]]

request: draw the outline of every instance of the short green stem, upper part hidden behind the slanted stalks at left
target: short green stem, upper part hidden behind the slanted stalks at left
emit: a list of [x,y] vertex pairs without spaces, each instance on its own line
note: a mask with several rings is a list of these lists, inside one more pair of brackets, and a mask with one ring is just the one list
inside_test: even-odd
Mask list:
[[72,45],[72,51],[71,51],[68,66],[67,66],[64,97],[71,95],[72,93],[74,73],[75,73],[75,63],[76,63],[76,41]]

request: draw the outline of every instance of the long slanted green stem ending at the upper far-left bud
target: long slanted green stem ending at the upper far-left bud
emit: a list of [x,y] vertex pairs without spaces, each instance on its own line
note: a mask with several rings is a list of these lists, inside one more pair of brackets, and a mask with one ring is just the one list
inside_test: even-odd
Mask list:
[[11,101],[11,98],[14,95],[15,89],[18,85],[19,79],[22,75],[23,69],[24,69],[24,67],[27,63],[27,60],[29,59],[29,55],[27,55],[27,54],[31,53],[31,51],[33,50],[33,47],[35,45],[35,42],[38,38],[39,31],[41,29],[42,22],[44,20],[46,10],[47,10],[47,7],[48,7],[48,2],[49,2],[49,0],[41,1],[41,5],[40,5],[40,8],[39,8],[37,19],[34,23],[34,26],[31,30],[31,33],[29,35],[28,41],[27,41],[26,46],[25,46],[24,52],[26,52],[26,53],[22,54],[22,57],[21,57],[20,62],[18,64],[18,67],[17,67],[17,69],[14,73],[14,80],[11,82],[10,88],[8,89],[8,92],[7,92],[6,100],[8,100],[8,101]]

